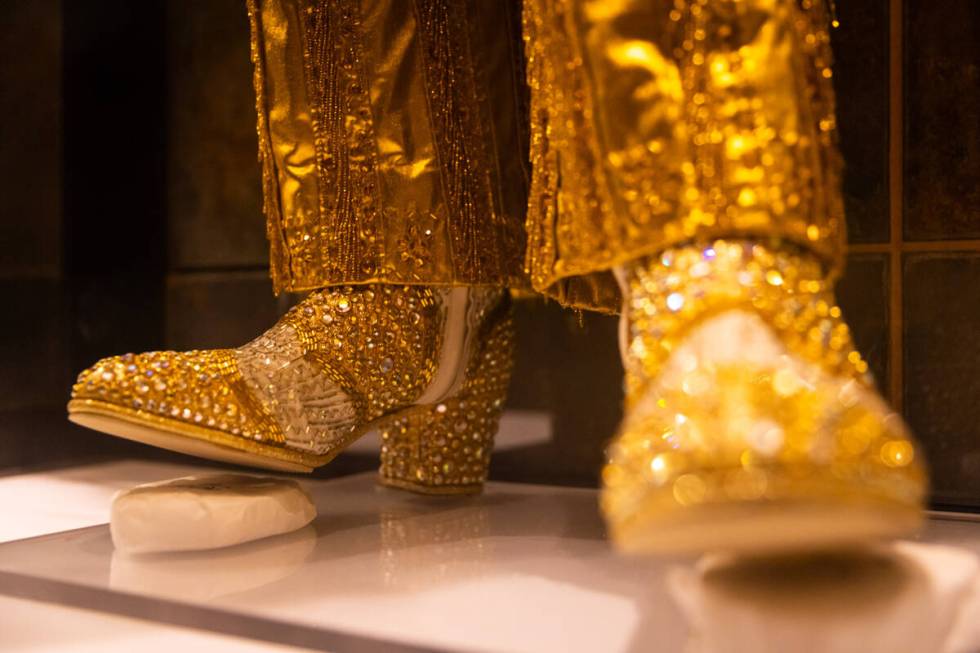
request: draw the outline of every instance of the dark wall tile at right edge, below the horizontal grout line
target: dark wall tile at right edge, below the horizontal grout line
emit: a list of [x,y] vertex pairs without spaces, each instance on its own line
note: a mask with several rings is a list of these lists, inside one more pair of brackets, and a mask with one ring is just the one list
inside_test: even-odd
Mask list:
[[906,417],[933,500],[980,508],[980,253],[908,255],[903,267]]

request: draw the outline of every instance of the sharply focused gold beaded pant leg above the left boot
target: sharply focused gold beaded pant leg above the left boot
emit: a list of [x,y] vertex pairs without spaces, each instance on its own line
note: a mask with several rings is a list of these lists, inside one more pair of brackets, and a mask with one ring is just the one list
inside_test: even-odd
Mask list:
[[277,291],[526,286],[516,6],[248,6]]

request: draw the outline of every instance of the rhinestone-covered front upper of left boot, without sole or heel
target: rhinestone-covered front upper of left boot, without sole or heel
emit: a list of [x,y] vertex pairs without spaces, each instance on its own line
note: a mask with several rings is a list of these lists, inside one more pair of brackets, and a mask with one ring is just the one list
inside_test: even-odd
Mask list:
[[238,349],[103,359],[79,375],[70,407],[331,456],[431,382],[441,297],[422,286],[316,291]]

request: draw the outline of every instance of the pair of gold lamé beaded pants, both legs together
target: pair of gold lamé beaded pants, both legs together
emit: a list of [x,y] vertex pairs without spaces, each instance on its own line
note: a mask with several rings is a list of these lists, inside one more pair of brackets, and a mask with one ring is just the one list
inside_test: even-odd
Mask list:
[[248,0],[277,290],[534,289],[844,242],[824,0]]

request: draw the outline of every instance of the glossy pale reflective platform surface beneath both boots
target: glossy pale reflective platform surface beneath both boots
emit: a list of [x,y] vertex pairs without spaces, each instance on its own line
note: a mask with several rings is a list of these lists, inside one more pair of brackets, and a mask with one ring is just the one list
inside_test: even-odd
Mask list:
[[311,526],[221,551],[122,556],[105,525],[0,544],[0,594],[327,651],[980,650],[973,522],[863,552],[652,561],[609,550],[591,490],[304,484]]

